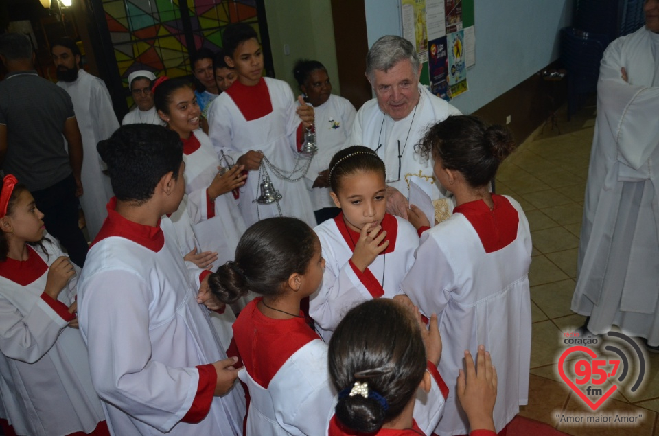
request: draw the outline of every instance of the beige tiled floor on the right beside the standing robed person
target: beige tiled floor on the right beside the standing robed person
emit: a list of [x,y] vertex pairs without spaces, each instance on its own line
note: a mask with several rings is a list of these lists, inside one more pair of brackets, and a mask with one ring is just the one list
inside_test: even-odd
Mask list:
[[[659,436],[658,354],[647,355],[649,371],[636,393],[630,394],[629,387],[623,387],[597,413],[583,404],[557,370],[559,356],[568,347],[562,341],[563,332],[575,330],[585,320],[570,310],[570,301],[575,288],[594,112],[594,106],[587,106],[570,122],[564,113],[559,114],[562,134],[557,129],[544,128],[502,164],[496,179],[496,192],[512,196],[524,208],[533,238],[529,272],[533,318],[531,380],[529,404],[520,415],[546,422],[570,435]],[[612,413],[643,417],[635,426],[594,426],[559,420],[562,415]]]

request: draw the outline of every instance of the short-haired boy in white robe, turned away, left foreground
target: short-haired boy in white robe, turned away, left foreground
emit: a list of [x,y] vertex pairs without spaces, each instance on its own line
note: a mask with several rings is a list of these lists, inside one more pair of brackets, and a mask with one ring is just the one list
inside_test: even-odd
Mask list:
[[132,124],[102,155],[116,197],[80,275],[78,317],[108,426],[115,435],[242,435],[235,358],[199,304],[216,301],[196,295],[205,275],[191,277],[172,222],[161,218],[185,193],[181,141]]

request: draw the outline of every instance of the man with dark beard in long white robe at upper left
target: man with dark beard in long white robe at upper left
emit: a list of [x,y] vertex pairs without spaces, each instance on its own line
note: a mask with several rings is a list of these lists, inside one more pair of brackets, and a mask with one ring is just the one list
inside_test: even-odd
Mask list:
[[81,55],[76,43],[62,38],[52,45],[51,54],[57,67],[57,84],[71,96],[82,133],[87,158],[82,164],[85,190],[80,203],[89,238],[93,240],[105,220],[106,205],[113,196],[110,179],[102,172],[104,164],[96,151],[96,144],[108,139],[119,128],[119,122],[104,82],[80,68]]

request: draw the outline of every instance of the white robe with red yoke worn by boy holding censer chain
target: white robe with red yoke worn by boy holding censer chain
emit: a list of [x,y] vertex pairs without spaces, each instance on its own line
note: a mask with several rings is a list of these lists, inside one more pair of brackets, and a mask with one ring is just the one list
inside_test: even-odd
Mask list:
[[[272,111],[265,113],[268,101]],[[266,159],[281,170],[292,171],[298,158],[297,130],[300,119],[295,113],[293,93],[282,80],[262,78],[259,85],[246,87],[233,82],[221,93],[208,114],[209,137],[221,157],[223,152],[238,161],[249,150],[262,150]],[[297,163],[303,165],[303,159]],[[262,167],[266,165],[262,161]],[[304,181],[289,182],[278,179],[268,168],[270,180],[283,198],[279,200],[281,213],[294,216],[310,227],[316,225],[314,210]],[[246,184],[240,188],[240,211],[247,227],[259,219],[279,216],[277,203],[253,203],[259,197],[261,177],[259,170],[249,172]]]

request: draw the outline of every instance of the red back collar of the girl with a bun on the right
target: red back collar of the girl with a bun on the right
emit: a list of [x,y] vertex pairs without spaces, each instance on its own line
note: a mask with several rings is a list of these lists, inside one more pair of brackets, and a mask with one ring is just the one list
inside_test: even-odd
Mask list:
[[463,214],[478,233],[485,253],[498,251],[517,238],[520,216],[504,196],[492,194],[494,209],[483,200],[470,201],[453,209],[454,214]]

